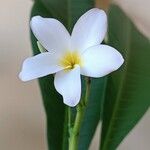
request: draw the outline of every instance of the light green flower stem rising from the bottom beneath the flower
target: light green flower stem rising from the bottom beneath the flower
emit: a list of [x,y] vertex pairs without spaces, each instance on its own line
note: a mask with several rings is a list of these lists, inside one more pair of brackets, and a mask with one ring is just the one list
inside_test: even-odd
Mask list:
[[81,125],[84,118],[85,108],[87,106],[88,97],[90,93],[90,78],[86,78],[86,93],[84,100],[80,101],[80,103],[76,107],[76,118],[74,122],[74,126],[69,129],[70,138],[69,138],[69,150],[77,150],[78,149],[78,141],[79,141],[79,132],[81,129]]

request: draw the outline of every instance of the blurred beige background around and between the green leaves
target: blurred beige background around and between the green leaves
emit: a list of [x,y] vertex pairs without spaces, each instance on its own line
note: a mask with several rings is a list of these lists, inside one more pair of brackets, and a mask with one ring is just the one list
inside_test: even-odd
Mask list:
[[[150,38],[150,1],[115,0]],[[1,0],[0,5],[0,149],[46,150],[45,113],[37,81],[18,79],[23,60],[32,55],[29,39],[31,0]],[[118,147],[150,149],[150,111]],[[91,144],[98,149],[100,127]],[[143,149],[144,148],[144,149]]]

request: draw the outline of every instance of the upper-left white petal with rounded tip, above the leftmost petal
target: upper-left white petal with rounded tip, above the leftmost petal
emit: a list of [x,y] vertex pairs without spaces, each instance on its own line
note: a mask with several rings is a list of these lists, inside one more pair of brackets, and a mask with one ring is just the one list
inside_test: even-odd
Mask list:
[[31,20],[31,29],[46,50],[62,52],[70,49],[70,35],[58,20],[35,16]]

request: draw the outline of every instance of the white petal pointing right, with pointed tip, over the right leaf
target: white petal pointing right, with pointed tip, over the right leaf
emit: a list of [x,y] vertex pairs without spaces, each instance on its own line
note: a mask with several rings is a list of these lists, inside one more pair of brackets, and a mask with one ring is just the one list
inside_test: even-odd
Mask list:
[[102,77],[117,70],[124,62],[122,55],[107,45],[94,46],[83,55],[81,74],[90,77]]

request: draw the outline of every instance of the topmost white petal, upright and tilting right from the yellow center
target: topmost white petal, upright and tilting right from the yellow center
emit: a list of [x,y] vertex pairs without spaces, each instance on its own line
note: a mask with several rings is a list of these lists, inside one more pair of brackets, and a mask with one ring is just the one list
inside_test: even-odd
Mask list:
[[93,8],[82,15],[74,26],[72,49],[84,51],[100,44],[107,31],[107,16],[103,10]]

